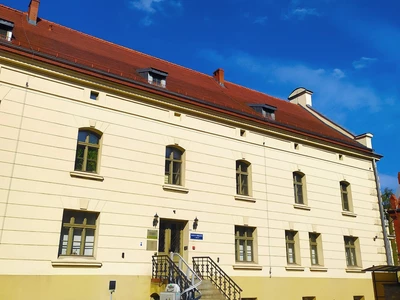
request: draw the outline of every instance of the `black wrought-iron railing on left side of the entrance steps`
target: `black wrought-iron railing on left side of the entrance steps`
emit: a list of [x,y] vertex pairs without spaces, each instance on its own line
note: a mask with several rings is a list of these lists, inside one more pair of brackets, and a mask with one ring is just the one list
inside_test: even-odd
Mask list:
[[152,263],[152,278],[160,279],[161,282],[177,284],[182,292],[181,300],[200,299],[201,293],[197,288],[192,288],[193,284],[191,279],[179,269],[168,255],[153,256]]

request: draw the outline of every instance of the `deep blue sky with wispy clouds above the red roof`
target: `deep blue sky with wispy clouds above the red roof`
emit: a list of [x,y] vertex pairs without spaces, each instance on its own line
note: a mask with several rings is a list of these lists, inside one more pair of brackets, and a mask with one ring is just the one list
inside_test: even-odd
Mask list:
[[381,185],[395,190],[398,11],[396,0],[42,0],[39,16],[282,99],[306,87],[315,109],[374,135]]

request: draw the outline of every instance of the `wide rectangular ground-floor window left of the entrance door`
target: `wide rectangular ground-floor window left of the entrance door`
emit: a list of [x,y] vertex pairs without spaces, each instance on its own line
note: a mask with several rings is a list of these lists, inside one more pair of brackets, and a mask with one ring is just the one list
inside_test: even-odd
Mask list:
[[98,213],[64,210],[59,255],[94,255]]

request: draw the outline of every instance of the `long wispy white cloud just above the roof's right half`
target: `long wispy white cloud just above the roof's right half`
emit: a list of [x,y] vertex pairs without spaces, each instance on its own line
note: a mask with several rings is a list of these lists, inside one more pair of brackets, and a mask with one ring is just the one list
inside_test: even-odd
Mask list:
[[[342,80],[344,72],[338,68],[327,71],[324,68],[313,68],[302,63],[282,62],[270,58],[260,58],[247,53],[237,52],[223,56],[213,50],[203,50],[200,55],[218,65],[224,65],[226,73],[245,72],[247,77],[263,78],[265,85],[271,80],[274,85],[281,85],[289,90],[303,86],[315,92],[319,107],[328,109],[341,107],[340,112],[368,108],[378,111],[382,95],[368,85]],[[257,89],[257,87],[255,87]]]

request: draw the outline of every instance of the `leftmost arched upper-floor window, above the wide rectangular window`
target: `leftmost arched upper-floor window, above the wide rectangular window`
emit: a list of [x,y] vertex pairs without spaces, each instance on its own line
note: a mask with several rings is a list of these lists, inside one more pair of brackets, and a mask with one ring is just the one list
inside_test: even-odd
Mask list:
[[79,130],[76,147],[75,171],[97,173],[100,135],[90,130]]

